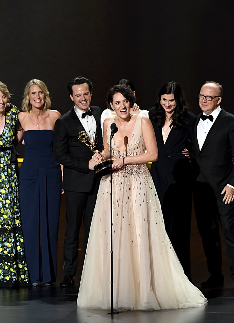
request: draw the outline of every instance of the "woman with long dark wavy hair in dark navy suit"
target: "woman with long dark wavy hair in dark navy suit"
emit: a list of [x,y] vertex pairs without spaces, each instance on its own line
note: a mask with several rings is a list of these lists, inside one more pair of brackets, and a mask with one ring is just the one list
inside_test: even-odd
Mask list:
[[166,232],[185,275],[191,280],[190,230],[194,175],[185,150],[191,145],[196,117],[188,112],[184,92],[176,82],[162,86],[149,117],[159,152],[158,160],[152,162],[151,175],[161,203]]

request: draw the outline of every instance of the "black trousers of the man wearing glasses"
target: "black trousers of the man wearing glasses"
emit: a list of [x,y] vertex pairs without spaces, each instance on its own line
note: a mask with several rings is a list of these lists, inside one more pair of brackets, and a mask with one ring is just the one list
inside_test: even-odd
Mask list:
[[204,182],[195,183],[193,196],[197,228],[202,238],[208,271],[211,275],[222,272],[220,223],[234,279],[234,202],[225,204],[222,201],[224,195],[215,195],[212,187]]

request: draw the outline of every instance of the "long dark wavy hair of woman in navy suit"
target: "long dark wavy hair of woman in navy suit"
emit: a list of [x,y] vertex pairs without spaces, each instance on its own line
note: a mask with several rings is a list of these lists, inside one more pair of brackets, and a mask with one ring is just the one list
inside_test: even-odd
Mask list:
[[178,83],[172,81],[164,84],[158,91],[158,98],[154,105],[155,111],[151,116],[151,122],[154,126],[162,128],[166,120],[166,111],[163,109],[160,101],[164,94],[174,94],[176,108],[171,117],[173,120],[170,127],[181,130],[188,124],[188,106],[185,102],[184,92]]

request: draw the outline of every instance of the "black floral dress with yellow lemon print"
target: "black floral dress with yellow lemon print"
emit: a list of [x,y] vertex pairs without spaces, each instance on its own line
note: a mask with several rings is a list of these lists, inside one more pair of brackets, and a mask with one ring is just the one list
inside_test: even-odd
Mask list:
[[30,284],[13,150],[18,113],[14,105],[6,108],[5,128],[0,135],[0,287]]

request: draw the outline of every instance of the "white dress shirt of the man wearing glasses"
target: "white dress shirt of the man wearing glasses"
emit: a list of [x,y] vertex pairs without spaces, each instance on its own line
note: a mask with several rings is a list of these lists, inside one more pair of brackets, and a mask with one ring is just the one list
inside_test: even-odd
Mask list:
[[[217,107],[217,109],[215,109],[210,115],[213,116],[214,120],[210,121],[209,119],[206,120],[202,120],[200,119],[197,125],[197,141],[198,141],[198,145],[199,145],[199,149],[201,151],[202,146],[206,140],[206,136],[208,134],[208,132],[210,131],[211,127],[213,126],[217,116],[219,115],[221,111],[220,106]],[[203,114],[206,116],[207,114],[205,112],[203,112]],[[233,186],[231,186],[230,184],[227,184],[229,187],[234,188]],[[221,192],[220,192],[221,193]]]

